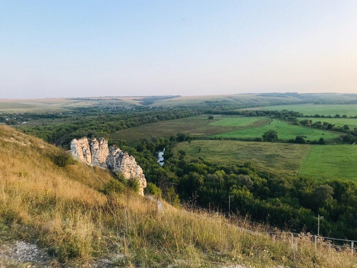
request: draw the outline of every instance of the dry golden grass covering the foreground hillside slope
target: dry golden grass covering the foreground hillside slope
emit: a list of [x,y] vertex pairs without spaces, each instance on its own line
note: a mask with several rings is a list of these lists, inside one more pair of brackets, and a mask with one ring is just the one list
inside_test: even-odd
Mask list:
[[[87,267],[108,257],[120,267],[339,267],[356,265],[349,252],[315,250],[309,237],[291,242],[251,234],[265,232],[244,219],[215,212],[189,212],[128,192],[98,190],[111,176],[82,163],[56,167],[57,148],[0,126],[0,218],[13,239],[36,239],[58,261]],[[9,233],[7,234],[9,235]]]

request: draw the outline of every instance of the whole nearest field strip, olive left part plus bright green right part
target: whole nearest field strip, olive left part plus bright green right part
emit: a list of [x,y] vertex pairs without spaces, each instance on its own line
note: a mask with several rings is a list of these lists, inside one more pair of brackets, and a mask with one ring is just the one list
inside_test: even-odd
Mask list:
[[356,145],[310,145],[237,140],[192,140],[177,144],[188,156],[216,163],[244,164],[280,177],[303,177],[318,181],[331,179],[357,182]]

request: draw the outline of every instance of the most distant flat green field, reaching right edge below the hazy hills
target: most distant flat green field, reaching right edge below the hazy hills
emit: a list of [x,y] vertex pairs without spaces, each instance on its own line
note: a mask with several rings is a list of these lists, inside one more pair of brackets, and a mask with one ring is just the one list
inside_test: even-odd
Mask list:
[[290,110],[297,111],[304,115],[331,115],[346,114],[347,116],[357,115],[357,104],[297,104],[297,105],[275,105],[255,108],[246,108],[242,110]]

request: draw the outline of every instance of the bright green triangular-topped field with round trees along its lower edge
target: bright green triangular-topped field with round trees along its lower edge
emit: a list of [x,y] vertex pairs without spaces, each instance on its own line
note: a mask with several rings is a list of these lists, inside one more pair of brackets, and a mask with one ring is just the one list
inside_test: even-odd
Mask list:
[[329,131],[307,128],[303,126],[291,125],[279,120],[272,120],[268,125],[256,128],[247,128],[242,130],[230,131],[227,133],[216,134],[213,137],[223,138],[257,138],[261,137],[267,130],[276,130],[278,139],[293,139],[297,135],[306,137],[307,140],[318,140],[323,137],[325,140],[338,138],[338,134]]

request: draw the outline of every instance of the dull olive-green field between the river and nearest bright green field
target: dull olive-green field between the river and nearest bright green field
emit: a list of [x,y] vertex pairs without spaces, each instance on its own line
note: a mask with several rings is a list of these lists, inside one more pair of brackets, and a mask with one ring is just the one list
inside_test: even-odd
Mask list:
[[[258,169],[291,177],[298,174],[300,164],[313,145],[243,142],[237,140],[192,140],[177,144],[175,150],[183,149],[190,157],[222,164],[244,164],[250,161]],[[198,149],[201,148],[201,152]]]

